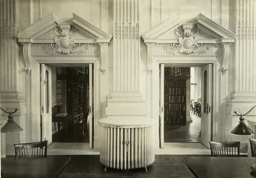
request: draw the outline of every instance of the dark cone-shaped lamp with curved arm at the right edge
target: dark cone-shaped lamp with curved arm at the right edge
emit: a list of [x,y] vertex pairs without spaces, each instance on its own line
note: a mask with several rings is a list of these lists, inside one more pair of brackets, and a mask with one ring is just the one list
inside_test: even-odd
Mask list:
[[255,133],[244,123],[244,116],[247,115],[248,113],[251,112],[251,110],[253,110],[253,108],[256,107],[253,106],[247,113],[245,114],[238,114],[237,111],[235,110],[234,113],[237,116],[240,116],[239,119],[239,124],[230,132],[233,133],[235,135],[242,135],[242,136],[253,136],[255,135]]

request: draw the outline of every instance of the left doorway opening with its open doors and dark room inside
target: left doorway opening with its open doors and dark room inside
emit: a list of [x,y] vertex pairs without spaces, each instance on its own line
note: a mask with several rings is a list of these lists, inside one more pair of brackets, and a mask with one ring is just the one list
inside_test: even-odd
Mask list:
[[93,74],[93,64],[41,64],[41,140],[93,148]]

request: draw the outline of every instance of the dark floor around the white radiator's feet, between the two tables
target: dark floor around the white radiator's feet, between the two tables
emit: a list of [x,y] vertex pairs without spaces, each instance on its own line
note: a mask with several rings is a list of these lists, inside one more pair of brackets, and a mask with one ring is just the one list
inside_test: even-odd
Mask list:
[[[155,161],[144,169],[116,170],[99,162],[99,155],[71,155],[71,161],[59,175],[60,178],[193,178],[194,175],[183,163],[186,155],[155,155]],[[210,156],[210,155],[189,155]]]

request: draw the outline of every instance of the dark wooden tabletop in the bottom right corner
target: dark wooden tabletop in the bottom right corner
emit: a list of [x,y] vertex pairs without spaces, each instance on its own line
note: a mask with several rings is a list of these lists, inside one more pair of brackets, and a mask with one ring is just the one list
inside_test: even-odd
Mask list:
[[197,178],[256,178],[256,172],[250,170],[256,158],[183,157],[183,160]]

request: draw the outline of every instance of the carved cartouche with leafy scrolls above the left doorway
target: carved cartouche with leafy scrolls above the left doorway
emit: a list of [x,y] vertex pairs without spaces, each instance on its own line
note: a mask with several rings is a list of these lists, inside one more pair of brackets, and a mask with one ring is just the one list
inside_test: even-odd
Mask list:
[[47,54],[85,54],[87,47],[74,43],[74,35],[77,33],[77,28],[70,27],[70,24],[62,24],[54,29],[54,43],[44,46],[43,49]]

